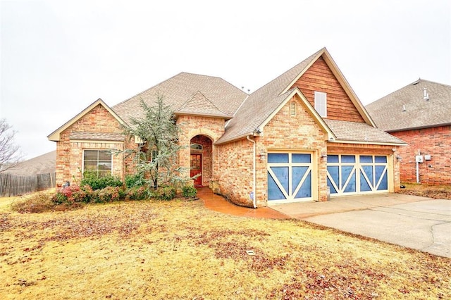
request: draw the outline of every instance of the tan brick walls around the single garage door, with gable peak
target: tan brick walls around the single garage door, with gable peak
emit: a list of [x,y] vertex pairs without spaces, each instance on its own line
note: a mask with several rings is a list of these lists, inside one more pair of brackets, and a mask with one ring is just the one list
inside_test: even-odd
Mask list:
[[[290,101],[274,115],[264,127],[261,137],[252,137],[257,142],[256,170],[257,206],[267,205],[267,170],[266,161],[261,161],[260,154],[265,155],[271,149],[283,151],[311,151],[317,164],[315,200],[326,201],[326,161],[321,160],[321,153],[326,153],[326,135],[311,118],[297,97],[291,101],[297,104],[297,115],[290,115]],[[253,144],[247,139],[216,146],[220,173],[216,173],[221,194],[235,204],[252,206],[250,193],[253,189]]]

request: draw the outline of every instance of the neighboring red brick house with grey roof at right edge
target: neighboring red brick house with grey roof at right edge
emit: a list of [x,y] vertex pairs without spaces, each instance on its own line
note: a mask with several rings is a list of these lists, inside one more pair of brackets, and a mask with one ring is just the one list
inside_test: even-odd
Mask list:
[[451,86],[419,79],[366,109],[380,129],[408,144],[400,149],[402,182],[451,185]]

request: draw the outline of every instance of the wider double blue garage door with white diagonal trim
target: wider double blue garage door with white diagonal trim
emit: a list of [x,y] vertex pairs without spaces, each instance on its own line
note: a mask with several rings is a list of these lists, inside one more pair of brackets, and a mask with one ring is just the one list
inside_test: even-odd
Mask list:
[[388,192],[387,156],[327,156],[327,184],[330,194]]

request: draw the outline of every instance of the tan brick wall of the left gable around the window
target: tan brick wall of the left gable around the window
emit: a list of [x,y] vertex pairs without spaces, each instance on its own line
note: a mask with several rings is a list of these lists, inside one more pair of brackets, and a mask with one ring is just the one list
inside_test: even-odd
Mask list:
[[[60,134],[60,140],[56,142],[56,186],[60,187],[64,182],[71,184],[75,180],[82,179],[82,160],[84,149],[124,149],[134,147],[133,139],[128,142],[121,141],[95,141],[95,140],[70,140],[73,132],[93,133],[122,133],[118,120],[100,104],[75,121]],[[124,145],[125,143],[125,145]],[[113,156],[113,175],[124,178],[123,156]]]

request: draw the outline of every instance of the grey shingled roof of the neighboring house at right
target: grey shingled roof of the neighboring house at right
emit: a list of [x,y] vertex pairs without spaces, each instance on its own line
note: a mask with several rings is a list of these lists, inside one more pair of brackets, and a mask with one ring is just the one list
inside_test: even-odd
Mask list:
[[366,110],[387,132],[451,125],[451,86],[419,79],[368,104]]

